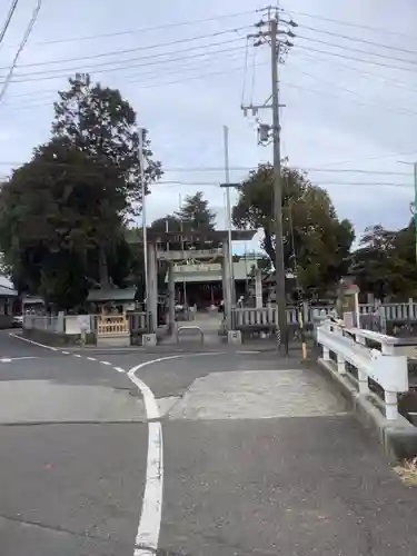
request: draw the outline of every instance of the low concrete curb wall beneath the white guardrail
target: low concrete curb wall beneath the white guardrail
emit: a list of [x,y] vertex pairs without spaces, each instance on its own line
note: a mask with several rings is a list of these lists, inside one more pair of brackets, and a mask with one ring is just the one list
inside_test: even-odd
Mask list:
[[387,420],[374,400],[360,395],[346,376],[336,371],[332,363],[318,358],[318,364],[354,409],[360,423],[381,443],[390,461],[417,455],[417,428],[414,425],[403,416],[395,421]]

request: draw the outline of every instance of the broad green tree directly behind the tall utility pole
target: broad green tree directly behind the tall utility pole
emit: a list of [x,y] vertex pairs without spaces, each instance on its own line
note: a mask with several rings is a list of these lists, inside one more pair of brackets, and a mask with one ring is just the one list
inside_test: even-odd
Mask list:
[[[284,254],[288,271],[297,271],[306,291],[322,292],[348,270],[355,238],[348,220],[339,220],[328,193],[306,173],[282,168]],[[274,172],[270,165],[251,171],[238,188],[232,218],[238,228],[261,228],[262,247],[275,262]]]

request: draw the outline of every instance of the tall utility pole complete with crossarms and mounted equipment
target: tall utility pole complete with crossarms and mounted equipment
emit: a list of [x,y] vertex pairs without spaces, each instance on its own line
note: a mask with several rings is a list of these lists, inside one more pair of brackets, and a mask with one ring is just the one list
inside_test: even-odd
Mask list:
[[[279,123],[279,76],[278,67],[282,62],[281,54],[288,51],[292,46],[287,39],[281,40],[280,36],[295,37],[291,28],[297,27],[292,20],[286,21],[280,18],[278,8],[268,7],[267,19],[256,24],[260,29],[258,33],[249,34],[248,38],[255,39],[254,46],[269,44],[271,48],[271,88],[272,93],[264,105],[242,106],[245,116],[251,110],[257,116],[261,109],[272,110],[272,126],[259,123],[259,142],[274,146],[274,230],[275,230],[275,278],[276,278],[276,304],[278,312],[277,339],[278,345],[284,346],[288,351],[287,334],[287,298],[286,298],[286,268],[284,260],[284,230],[282,230],[282,180],[281,180],[281,155],[280,155],[280,123]],[[282,28],[282,24],[285,26]],[[262,28],[266,27],[266,30]]]

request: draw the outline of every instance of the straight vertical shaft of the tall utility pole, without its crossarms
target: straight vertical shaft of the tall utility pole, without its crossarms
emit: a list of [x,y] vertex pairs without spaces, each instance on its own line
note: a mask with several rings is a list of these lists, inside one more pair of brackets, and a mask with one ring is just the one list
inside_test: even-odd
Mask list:
[[282,189],[281,189],[281,156],[280,156],[280,126],[279,126],[279,90],[278,90],[278,63],[279,41],[278,12],[270,20],[271,38],[271,79],[272,79],[272,136],[274,136],[274,217],[275,217],[275,277],[276,277],[276,304],[278,308],[278,340],[288,348],[287,337],[287,312],[286,312],[286,272],[284,264],[282,245]]

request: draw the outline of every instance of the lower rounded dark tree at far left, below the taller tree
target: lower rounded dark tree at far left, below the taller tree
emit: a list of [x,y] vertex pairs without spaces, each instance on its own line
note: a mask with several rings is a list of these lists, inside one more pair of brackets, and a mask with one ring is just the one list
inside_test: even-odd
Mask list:
[[[103,191],[103,179],[116,187]],[[60,139],[13,172],[0,193],[0,248],[20,290],[64,309],[85,300],[98,246],[111,254],[120,241],[120,180],[117,168]]]

